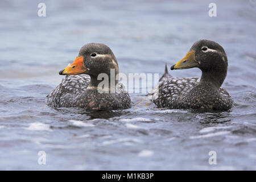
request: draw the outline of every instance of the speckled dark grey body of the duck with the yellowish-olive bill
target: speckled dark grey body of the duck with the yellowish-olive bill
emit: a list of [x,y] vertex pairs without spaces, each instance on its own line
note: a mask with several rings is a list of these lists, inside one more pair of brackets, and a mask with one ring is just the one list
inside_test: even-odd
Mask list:
[[200,77],[163,77],[158,89],[151,93],[154,95],[152,102],[158,107],[171,109],[230,109],[233,101],[224,88],[217,92],[207,85],[198,86],[199,81]]

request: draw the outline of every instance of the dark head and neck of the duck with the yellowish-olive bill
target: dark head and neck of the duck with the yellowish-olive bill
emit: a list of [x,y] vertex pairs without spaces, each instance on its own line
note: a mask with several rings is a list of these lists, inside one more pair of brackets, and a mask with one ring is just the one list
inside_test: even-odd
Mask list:
[[187,52],[187,55],[173,69],[199,68],[202,71],[200,82],[213,82],[218,88],[225,80],[228,59],[220,44],[211,40],[199,40]]

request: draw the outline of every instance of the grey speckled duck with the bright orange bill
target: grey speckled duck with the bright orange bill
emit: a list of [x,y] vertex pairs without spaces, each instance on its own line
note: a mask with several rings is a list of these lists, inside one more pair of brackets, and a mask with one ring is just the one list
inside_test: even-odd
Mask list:
[[108,46],[85,44],[75,61],[59,72],[65,78],[48,94],[47,105],[89,110],[129,109],[131,98],[118,81],[118,74],[117,59]]

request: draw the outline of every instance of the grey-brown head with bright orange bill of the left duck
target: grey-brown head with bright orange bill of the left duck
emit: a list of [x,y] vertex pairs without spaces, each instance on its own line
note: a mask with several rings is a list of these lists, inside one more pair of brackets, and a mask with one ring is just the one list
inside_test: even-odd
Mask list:
[[59,72],[60,75],[87,74],[92,80],[100,73],[110,76],[110,69],[119,73],[117,59],[112,50],[105,44],[89,43],[82,46],[79,55],[72,64]]

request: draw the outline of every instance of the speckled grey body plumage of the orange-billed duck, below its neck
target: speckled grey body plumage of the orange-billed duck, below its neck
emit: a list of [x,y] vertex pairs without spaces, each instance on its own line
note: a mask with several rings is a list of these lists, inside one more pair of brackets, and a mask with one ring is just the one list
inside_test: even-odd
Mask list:
[[85,109],[127,109],[131,107],[129,94],[121,83],[117,93],[98,93],[87,89],[88,75],[70,75],[47,96],[47,105],[53,107],[82,107]]

